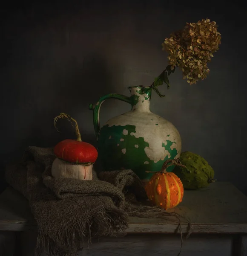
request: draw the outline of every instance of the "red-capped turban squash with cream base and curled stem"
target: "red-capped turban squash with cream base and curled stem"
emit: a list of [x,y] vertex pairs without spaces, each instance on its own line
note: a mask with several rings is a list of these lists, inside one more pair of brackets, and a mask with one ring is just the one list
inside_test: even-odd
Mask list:
[[75,119],[66,113],[60,113],[54,119],[56,127],[57,119],[66,118],[75,129],[77,140],[63,140],[54,147],[57,157],[52,164],[52,176],[55,178],[73,178],[78,180],[92,180],[92,166],[98,157],[97,149],[86,142],[81,141],[78,124]]

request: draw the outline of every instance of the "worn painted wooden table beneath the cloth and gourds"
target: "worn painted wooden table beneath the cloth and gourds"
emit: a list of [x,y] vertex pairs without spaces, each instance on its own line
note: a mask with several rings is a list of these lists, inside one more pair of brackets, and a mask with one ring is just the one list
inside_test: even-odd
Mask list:
[[[183,202],[170,211],[192,223],[181,256],[247,256],[247,197],[231,183],[185,191]],[[181,246],[177,228],[161,219],[130,218],[126,236],[92,241],[83,256],[176,256]],[[185,222],[182,228],[186,232]],[[26,199],[7,188],[0,195],[0,256],[32,256],[36,230]]]

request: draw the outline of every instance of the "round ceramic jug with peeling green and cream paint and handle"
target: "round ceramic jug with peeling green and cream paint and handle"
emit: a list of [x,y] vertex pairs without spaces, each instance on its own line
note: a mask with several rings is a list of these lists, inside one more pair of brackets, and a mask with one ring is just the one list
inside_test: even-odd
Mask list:
[[[128,88],[129,97],[107,94],[95,105],[90,104],[89,109],[93,110],[98,153],[104,170],[132,169],[146,182],[153,175],[150,172],[160,171],[165,160],[180,156],[181,137],[171,122],[150,111],[151,87]],[[106,99],[127,102],[132,109],[100,127],[100,108]],[[173,168],[170,166],[167,171],[171,172]]]

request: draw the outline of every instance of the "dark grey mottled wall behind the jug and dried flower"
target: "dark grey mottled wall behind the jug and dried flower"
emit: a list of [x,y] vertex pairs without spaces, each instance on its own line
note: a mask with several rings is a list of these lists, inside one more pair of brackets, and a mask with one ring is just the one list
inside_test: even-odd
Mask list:
[[[204,1],[205,2],[205,1]],[[246,42],[244,6],[237,2],[68,1],[19,3],[1,9],[1,187],[4,165],[29,145],[53,146],[73,138],[53,119],[66,112],[78,120],[83,140],[96,145],[89,103],[107,93],[128,95],[127,86],[152,83],[167,65],[165,37],[186,22],[210,18],[222,34],[210,75],[190,86],[176,70],[166,98],[152,96],[151,111],[172,122],[182,150],[201,154],[218,180],[247,194]],[[105,102],[101,123],[128,111]]]

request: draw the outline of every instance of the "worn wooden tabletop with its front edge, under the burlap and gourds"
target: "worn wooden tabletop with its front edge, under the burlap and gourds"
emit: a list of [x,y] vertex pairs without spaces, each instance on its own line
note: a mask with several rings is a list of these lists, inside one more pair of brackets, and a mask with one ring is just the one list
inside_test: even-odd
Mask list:
[[[193,233],[247,233],[247,197],[230,183],[216,182],[197,191],[185,191],[175,211],[192,223]],[[167,220],[129,218],[127,233],[174,233],[178,225]],[[187,224],[182,222],[184,232]],[[0,230],[36,230],[28,201],[14,189],[0,195]]]

